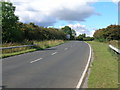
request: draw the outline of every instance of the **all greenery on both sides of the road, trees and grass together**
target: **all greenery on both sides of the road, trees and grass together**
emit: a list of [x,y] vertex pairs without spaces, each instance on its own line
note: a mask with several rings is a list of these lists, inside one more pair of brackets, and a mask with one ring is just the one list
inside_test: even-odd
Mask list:
[[[118,83],[117,56],[111,53],[108,43],[118,47],[120,39],[120,25],[110,25],[98,29],[94,37],[80,34],[76,37],[75,30],[69,26],[63,28],[52,28],[38,26],[35,23],[19,22],[19,17],[14,14],[15,7],[12,3],[0,1],[0,27],[2,26],[2,45],[0,47],[11,47],[21,45],[33,45],[32,47],[21,47],[2,50],[0,57],[8,57],[36,50],[43,50],[66,42],[66,40],[87,41],[93,48],[94,61],[89,77],[89,88],[116,88]],[[93,41],[94,40],[94,41]]]

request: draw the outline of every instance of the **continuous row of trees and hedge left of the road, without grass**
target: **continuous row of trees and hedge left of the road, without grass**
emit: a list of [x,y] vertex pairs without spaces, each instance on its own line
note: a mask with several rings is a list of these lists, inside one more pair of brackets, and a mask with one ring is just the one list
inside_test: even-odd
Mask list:
[[76,32],[69,26],[61,29],[41,27],[34,23],[19,22],[19,17],[14,14],[15,6],[9,2],[0,2],[2,10],[2,42],[22,42],[24,40],[65,40],[66,35],[70,35],[70,39],[74,39]]

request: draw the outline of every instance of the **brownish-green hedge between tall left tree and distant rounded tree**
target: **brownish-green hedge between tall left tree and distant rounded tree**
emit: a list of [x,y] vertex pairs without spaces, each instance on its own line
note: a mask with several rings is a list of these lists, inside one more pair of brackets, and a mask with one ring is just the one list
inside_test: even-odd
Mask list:
[[66,39],[66,34],[56,28],[44,28],[35,25],[34,23],[23,24],[18,23],[21,31],[24,32],[26,40],[55,40]]

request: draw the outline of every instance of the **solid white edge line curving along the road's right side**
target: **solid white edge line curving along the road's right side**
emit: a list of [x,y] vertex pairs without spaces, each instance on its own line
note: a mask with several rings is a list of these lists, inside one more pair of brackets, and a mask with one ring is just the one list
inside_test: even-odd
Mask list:
[[[86,43],[86,42],[85,42],[85,43]],[[86,44],[88,44],[88,43],[86,43]],[[89,48],[90,48],[90,53],[89,53],[88,62],[87,62],[87,65],[86,65],[86,67],[85,67],[85,69],[84,69],[84,71],[83,71],[83,73],[82,73],[82,76],[81,76],[81,78],[80,78],[80,80],[79,80],[79,82],[78,82],[78,84],[77,84],[77,86],[76,86],[76,90],[78,90],[78,89],[81,87],[81,84],[82,84],[82,82],[83,82],[83,79],[84,79],[84,77],[85,77],[85,74],[86,74],[86,72],[87,72],[88,66],[89,66],[90,61],[91,61],[91,46],[90,46],[90,44],[88,44],[88,46],[89,46]]]

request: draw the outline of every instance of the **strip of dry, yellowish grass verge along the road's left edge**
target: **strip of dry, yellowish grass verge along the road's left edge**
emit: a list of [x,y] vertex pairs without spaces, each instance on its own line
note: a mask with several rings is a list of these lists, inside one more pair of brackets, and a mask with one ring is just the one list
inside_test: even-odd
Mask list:
[[6,50],[6,51],[4,51],[4,53],[2,53],[2,55],[0,55],[0,57],[6,58],[6,57],[19,55],[19,54],[23,54],[23,53],[33,52],[33,51],[37,51],[37,50],[43,50],[43,49],[46,49],[46,48],[50,48],[50,47],[53,47],[53,46],[63,44],[65,42],[66,41],[63,41],[63,40],[49,40],[49,41],[40,41],[40,42],[34,41],[34,44],[37,45],[35,47],[32,47],[32,48],[18,48],[18,49],[15,48],[14,50],[12,50],[12,52],[9,51],[9,50]]

